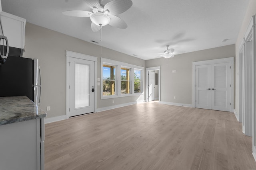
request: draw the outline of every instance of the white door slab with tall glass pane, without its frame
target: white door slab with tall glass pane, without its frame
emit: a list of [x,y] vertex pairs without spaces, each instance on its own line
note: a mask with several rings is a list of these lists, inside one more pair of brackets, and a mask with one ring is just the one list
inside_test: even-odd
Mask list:
[[70,57],[70,117],[94,112],[94,61]]

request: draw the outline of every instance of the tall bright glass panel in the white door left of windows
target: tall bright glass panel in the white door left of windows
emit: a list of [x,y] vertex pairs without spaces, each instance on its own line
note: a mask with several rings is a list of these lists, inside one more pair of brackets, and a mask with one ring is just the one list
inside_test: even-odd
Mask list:
[[89,66],[75,64],[75,108],[89,106]]

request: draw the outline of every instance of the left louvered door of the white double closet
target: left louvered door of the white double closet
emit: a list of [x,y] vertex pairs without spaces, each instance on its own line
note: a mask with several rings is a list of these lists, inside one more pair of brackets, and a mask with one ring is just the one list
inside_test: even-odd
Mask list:
[[195,66],[195,107],[211,109],[211,64]]

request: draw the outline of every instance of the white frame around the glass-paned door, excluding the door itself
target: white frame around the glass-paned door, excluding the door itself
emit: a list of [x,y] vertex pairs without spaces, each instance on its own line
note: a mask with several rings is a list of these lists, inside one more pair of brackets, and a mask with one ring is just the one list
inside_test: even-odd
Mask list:
[[88,61],[93,61],[94,62],[94,112],[96,110],[97,106],[97,57],[93,57],[90,55],[85,55],[81,53],[76,53],[73,51],[66,51],[66,119],[70,117],[69,113],[69,104],[70,104],[70,94],[69,94],[69,65],[70,65],[70,57],[77,58],[77,59],[82,59],[82,60],[88,60]]

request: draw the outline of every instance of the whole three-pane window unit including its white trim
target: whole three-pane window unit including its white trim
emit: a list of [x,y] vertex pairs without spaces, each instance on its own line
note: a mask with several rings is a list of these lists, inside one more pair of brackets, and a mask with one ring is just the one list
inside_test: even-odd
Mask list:
[[142,66],[101,58],[101,99],[142,95],[143,70]]

